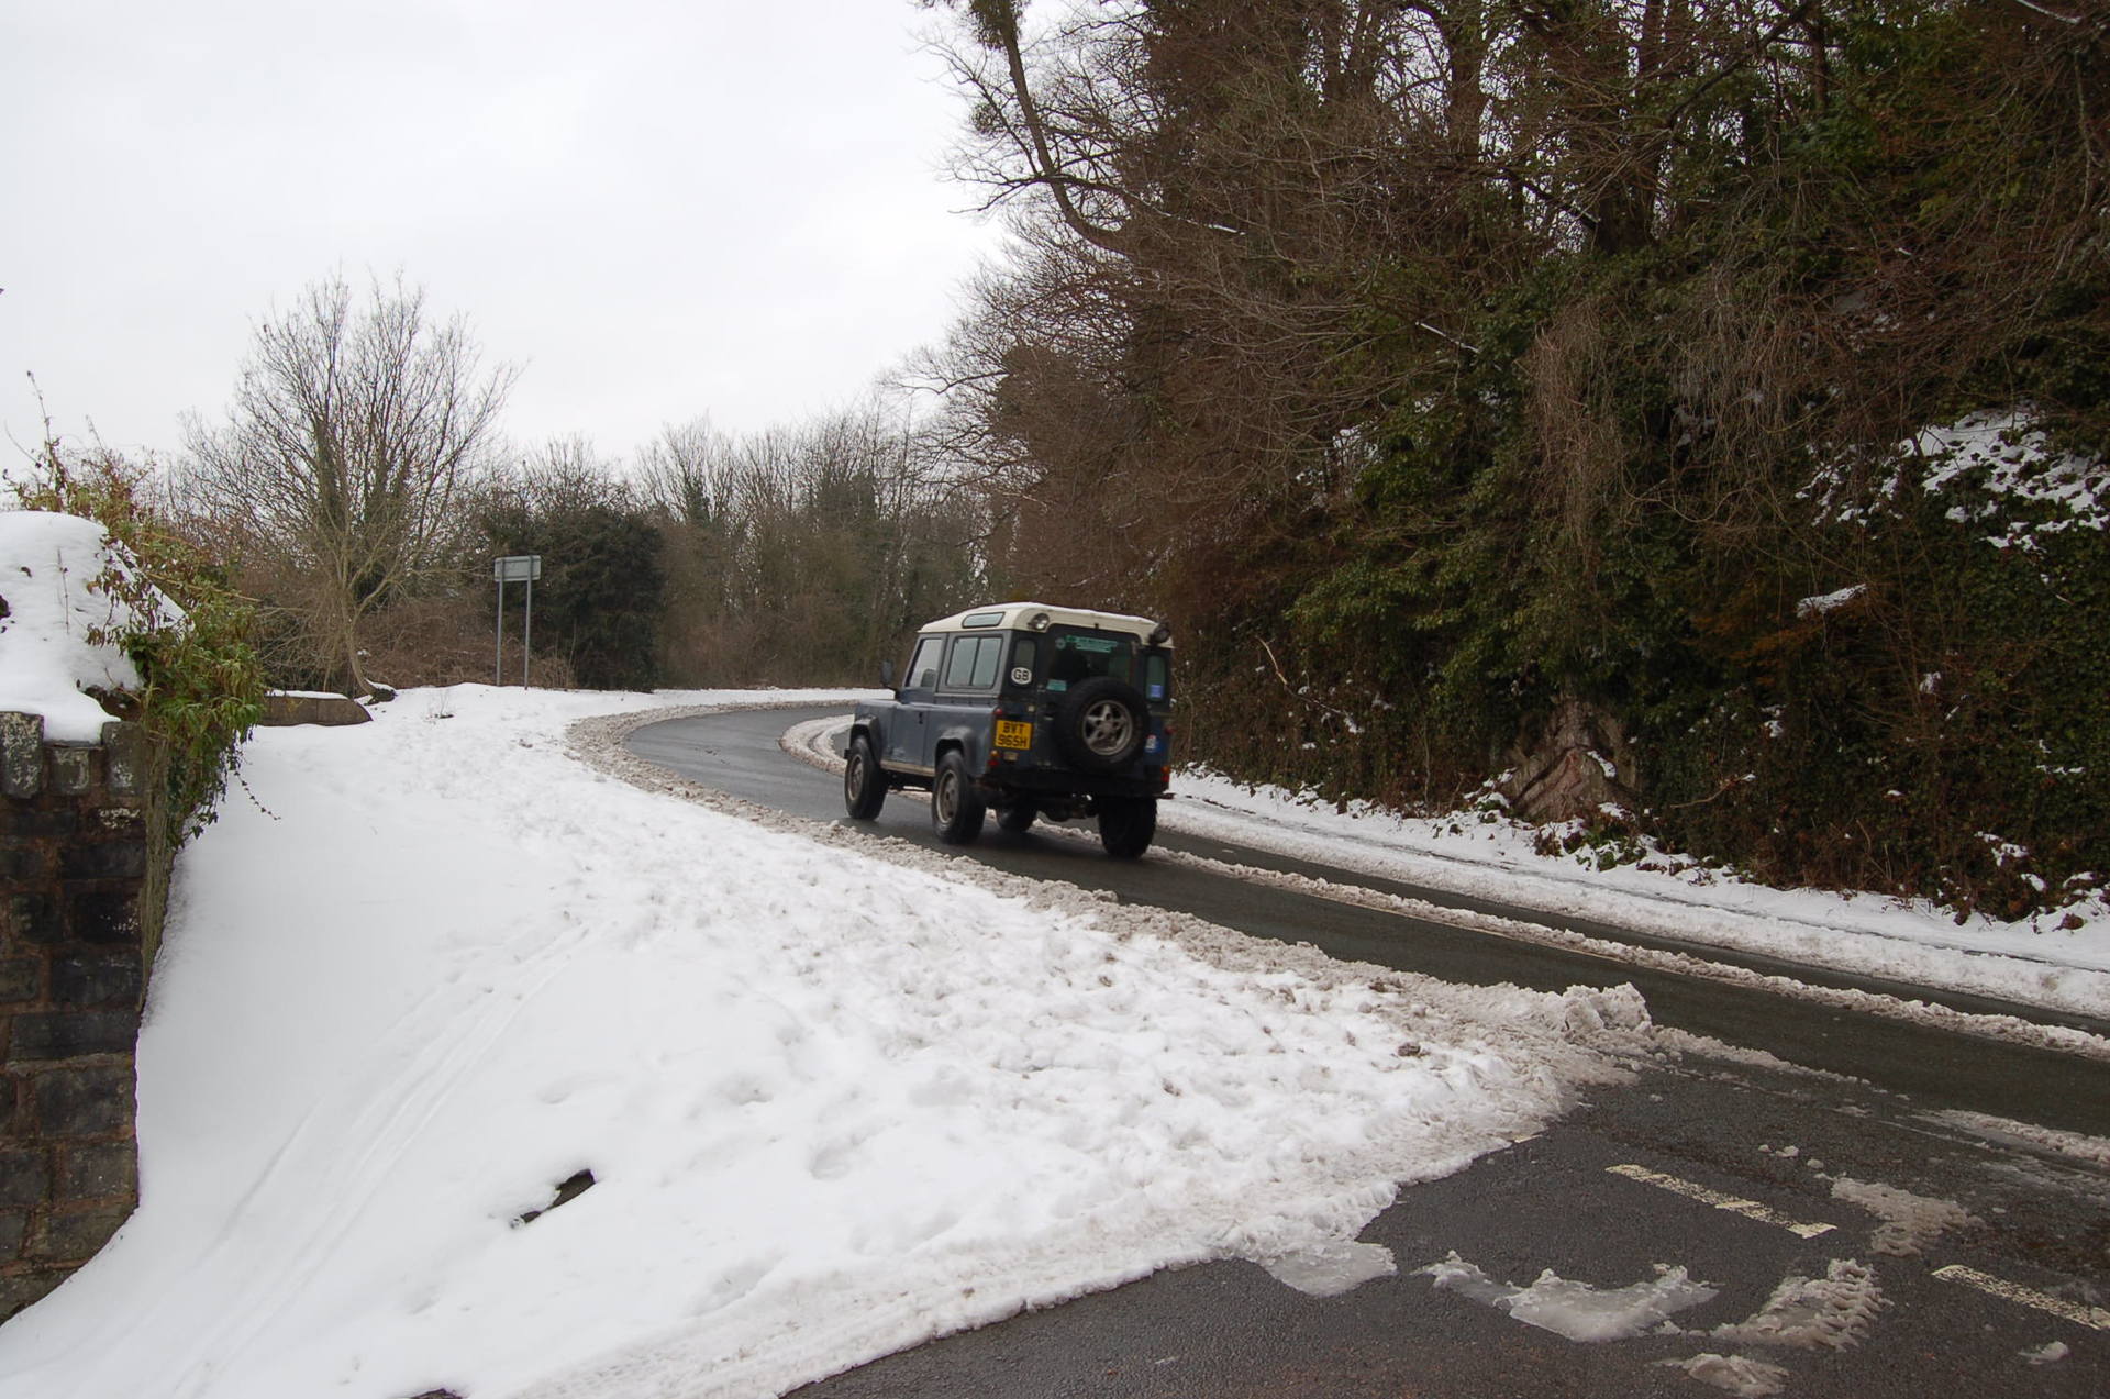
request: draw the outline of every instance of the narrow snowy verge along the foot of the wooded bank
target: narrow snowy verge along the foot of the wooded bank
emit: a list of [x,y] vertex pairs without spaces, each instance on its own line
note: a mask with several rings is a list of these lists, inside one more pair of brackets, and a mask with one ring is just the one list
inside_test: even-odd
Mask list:
[[[814,766],[840,772],[842,760],[829,745],[844,726],[846,720],[800,724],[785,734],[783,747]],[[2080,933],[2038,933],[1988,920],[1958,928],[1929,909],[1872,897],[1846,899],[1734,882],[1686,884],[1635,869],[1587,871],[1561,859],[1532,855],[1507,823],[1488,823],[1479,829],[1458,825],[1458,833],[1452,833],[1454,823],[1447,821],[1416,823],[1372,810],[1312,808],[1281,793],[1253,793],[1222,779],[1196,779],[1186,772],[1175,779],[1175,789],[1179,796],[1158,810],[1158,825],[1169,831],[1703,947],[1751,952],[1931,992],[1964,992],[2042,1011],[2110,1017],[2110,924],[2102,922]],[[1441,831],[1431,833],[1433,827]],[[2110,1059],[2110,1040],[2078,1030],[2036,1026],[2007,1015],[1971,1015],[1872,992],[1829,990],[1688,954],[1589,937],[1572,928],[1549,928],[1363,890],[1346,882],[1201,861],[1169,850],[1158,850],[1152,859],[1209,863],[1239,878],[1298,886],[1414,918]]]

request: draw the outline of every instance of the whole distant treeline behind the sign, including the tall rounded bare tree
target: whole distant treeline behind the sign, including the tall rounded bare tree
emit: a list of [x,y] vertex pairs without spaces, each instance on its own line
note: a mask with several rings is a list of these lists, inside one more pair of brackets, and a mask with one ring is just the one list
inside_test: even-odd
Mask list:
[[[694,420],[629,460],[498,437],[515,373],[401,281],[325,276],[257,325],[219,422],[169,462],[51,441],[38,471],[141,502],[255,606],[268,679],[346,694],[490,682],[540,555],[542,686],[878,684],[918,622],[987,593],[983,502],[903,401],[728,437]],[[519,684],[506,667],[504,679]]]

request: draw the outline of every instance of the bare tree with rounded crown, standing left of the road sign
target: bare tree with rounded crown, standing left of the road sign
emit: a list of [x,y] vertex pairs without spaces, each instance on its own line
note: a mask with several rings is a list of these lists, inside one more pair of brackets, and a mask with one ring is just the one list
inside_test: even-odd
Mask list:
[[222,426],[188,424],[184,498],[226,532],[302,660],[369,688],[361,622],[458,559],[462,492],[517,371],[479,369],[462,319],[401,276],[342,276],[257,325]]

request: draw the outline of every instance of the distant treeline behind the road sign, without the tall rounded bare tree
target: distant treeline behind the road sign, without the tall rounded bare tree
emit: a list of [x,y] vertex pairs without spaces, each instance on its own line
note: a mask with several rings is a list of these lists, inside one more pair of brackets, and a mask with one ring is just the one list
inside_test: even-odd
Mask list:
[[[538,686],[876,686],[903,635],[983,593],[979,504],[933,485],[903,424],[876,405],[741,439],[673,426],[631,460],[584,439],[515,460],[487,452],[430,523],[399,532],[424,557],[363,570],[333,566],[321,544],[289,549],[298,534],[230,532],[226,511],[200,509],[207,462],[192,454],[173,475],[181,515],[194,536],[222,540],[266,603],[264,654],[281,684],[494,679],[492,561],[506,555],[540,555],[528,669]],[[384,492],[367,496],[325,519],[363,519],[371,534],[390,506]],[[525,587],[506,589],[504,684],[521,682],[528,603]],[[357,625],[340,631],[331,618],[346,612]]]

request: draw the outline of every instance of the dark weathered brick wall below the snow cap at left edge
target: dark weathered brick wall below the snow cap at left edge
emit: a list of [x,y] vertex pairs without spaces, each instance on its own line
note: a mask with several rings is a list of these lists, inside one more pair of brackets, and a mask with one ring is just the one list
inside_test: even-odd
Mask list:
[[0,713],[0,1321],[139,1203],[146,772],[131,724],[72,747]]

